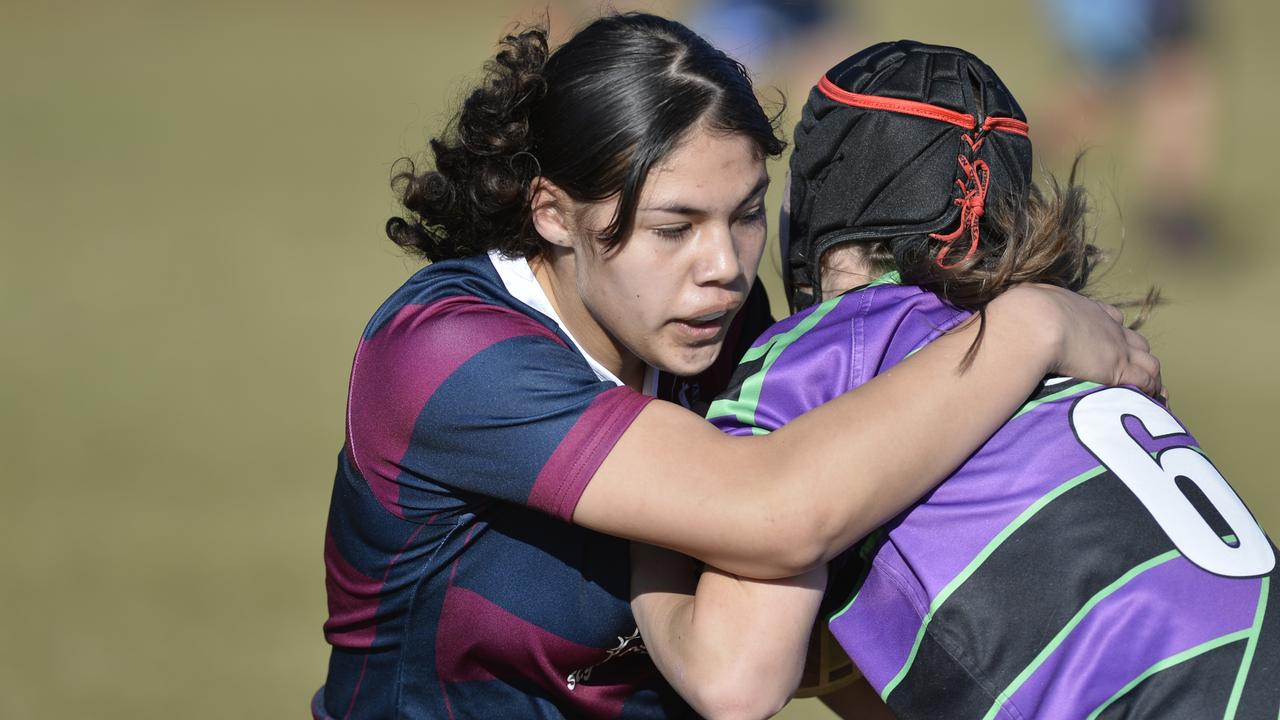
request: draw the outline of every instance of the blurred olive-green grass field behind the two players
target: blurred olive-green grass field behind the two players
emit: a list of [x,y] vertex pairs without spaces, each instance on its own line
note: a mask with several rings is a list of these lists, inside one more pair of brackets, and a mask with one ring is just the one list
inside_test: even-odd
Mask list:
[[[1106,286],[1166,288],[1148,334],[1174,407],[1275,533],[1280,8],[1211,12],[1221,111],[1187,141],[1216,147],[1221,255],[1175,272],[1130,243]],[[416,268],[381,234],[389,168],[534,14],[0,4],[0,716],[306,715],[351,354]],[[854,23],[849,50],[978,51],[1033,128],[1069,70],[1034,4],[904,0]],[[1091,155],[1112,246],[1140,192],[1124,158]]]

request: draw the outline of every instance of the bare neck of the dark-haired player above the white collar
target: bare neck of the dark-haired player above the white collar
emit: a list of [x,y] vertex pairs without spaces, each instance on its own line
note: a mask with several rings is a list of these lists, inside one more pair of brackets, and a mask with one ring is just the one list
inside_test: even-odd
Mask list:
[[588,355],[617,375],[623,384],[643,392],[648,366],[617,342],[588,310],[577,292],[573,255],[557,254],[554,249],[550,252],[552,258],[531,259],[529,266],[556,314]]

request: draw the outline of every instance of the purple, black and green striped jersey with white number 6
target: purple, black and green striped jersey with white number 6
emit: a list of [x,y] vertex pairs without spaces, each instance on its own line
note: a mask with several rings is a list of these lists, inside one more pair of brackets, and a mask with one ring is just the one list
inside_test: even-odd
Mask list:
[[[846,293],[756,341],[708,415],[768,433],[966,316],[892,279]],[[829,628],[899,717],[1280,712],[1275,548],[1187,429],[1132,388],[1046,380],[850,553]]]

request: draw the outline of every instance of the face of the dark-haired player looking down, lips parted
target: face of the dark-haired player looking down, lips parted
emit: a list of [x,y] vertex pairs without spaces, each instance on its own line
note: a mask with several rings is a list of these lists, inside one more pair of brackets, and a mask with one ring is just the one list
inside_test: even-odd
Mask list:
[[678,375],[707,369],[755,281],[768,182],[749,137],[695,129],[649,172],[635,225],[614,250],[596,233],[617,199],[573,204],[566,224],[576,297],[556,295],[588,352],[628,384],[644,364]]

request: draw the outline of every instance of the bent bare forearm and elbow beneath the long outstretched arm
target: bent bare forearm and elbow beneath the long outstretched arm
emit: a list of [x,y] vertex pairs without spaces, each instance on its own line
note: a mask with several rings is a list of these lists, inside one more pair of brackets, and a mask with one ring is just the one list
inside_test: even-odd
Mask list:
[[[650,546],[632,550],[632,611],[654,664],[707,717],[764,717],[800,682],[826,568],[746,580]],[[696,589],[695,589],[696,583]]]

